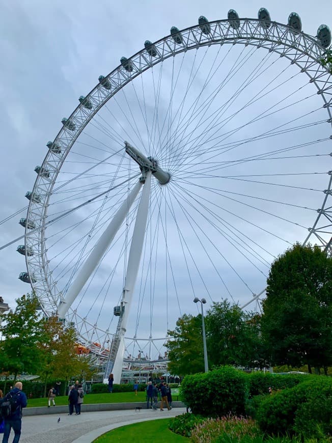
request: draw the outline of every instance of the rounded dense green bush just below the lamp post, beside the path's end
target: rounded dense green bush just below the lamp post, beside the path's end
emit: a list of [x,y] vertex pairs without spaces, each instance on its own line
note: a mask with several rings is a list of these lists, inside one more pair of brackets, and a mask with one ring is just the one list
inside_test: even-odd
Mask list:
[[224,366],[203,374],[187,375],[181,384],[181,396],[194,414],[242,416],[248,398],[246,374]]

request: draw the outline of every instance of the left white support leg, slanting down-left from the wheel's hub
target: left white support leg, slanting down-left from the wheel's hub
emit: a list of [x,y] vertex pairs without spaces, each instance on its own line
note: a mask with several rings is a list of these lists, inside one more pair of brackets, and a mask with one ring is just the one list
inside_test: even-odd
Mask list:
[[122,203],[122,205],[120,206],[117,213],[110,221],[109,225],[107,226],[103,234],[100,236],[98,242],[95,244],[93,250],[91,251],[84,265],[78,271],[76,279],[70,286],[68,292],[65,295],[65,298],[60,301],[60,304],[58,306],[59,317],[64,317],[66,315],[68,309],[74,302],[75,298],[77,297],[81,289],[84,287],[90,275],[98,265],[102,256],[106,252],[107,247],[110,245],[114,236],[116,235],[120,226],[122,225],[123,220],[127,215],[127,211],[129,210],[135,198],[137,197],[137,194],[139,193],[141,186],[142,182],[139,180],[132,188],[132,190],[129,193],[129,196]]

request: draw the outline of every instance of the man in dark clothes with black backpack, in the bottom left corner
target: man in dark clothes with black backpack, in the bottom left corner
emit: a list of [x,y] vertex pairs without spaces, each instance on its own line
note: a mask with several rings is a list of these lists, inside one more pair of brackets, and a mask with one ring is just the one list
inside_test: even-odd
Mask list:
[[22,383],[15,383],[13,389],[5,396],[0,405],[0,415],[5,420],[3,443],[8,443],[10,431],[13,428],[13,443],[18,443],[22,428],[22,408],[26,407],[27,398],[22,391]]

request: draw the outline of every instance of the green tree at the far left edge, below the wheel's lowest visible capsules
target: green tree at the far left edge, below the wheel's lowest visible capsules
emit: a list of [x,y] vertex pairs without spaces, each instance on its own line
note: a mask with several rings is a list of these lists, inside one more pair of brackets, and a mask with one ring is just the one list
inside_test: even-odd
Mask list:
[[41,354],[37,343],[42,334],[43,319],[37,308],[35,295],[22,295],[17,298],[15,311],[3,315],[0,331],[4,340],[0,342],[1,367],[16,379],[21,372],[35,373],[41,364]]

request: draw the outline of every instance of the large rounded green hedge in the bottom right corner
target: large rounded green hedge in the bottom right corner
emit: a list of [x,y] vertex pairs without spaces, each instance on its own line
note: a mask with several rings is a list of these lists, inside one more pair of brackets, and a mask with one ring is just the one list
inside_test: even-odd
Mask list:
[[290,389],[266,396],[260,403],[257,422],[270,435],[301,435],[320,438],[332,434],[332,380],[314,376]]

